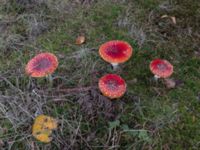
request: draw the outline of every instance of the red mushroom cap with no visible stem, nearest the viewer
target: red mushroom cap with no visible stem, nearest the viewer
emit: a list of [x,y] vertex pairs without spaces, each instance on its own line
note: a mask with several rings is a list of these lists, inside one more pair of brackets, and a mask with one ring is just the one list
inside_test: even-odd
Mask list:
[[99,79],[99,89],[104,96],[120,98],[126,92],[126,83],[116,74],[107,74]]

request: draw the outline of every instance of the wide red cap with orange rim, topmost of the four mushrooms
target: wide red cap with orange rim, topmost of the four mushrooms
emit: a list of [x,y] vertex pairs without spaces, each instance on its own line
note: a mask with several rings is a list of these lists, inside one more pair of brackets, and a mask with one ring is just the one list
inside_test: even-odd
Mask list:
[[100,46],[99,55],[109,63],[124,63],[131,57],[132,51],[129,43],[113,40]]

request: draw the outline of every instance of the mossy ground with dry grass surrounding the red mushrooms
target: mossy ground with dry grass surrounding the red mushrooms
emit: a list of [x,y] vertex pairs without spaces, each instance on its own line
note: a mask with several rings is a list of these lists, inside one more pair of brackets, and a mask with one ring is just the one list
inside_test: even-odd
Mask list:
[[[1,149],[200,148],[199,0],[0,3]],[[86,37],[82,45],[75,44],[79,35]],[[134,50],[117,72],[98,55],[113,39]],[[53,85],[24,71],[29,59],[47,51],[59,59]],[[153,80],[155,58],[174,65],[175,88]],[[107,73],[126,80],[122,98],[101,95],[98,79]],[[48,144],[31,134],[38,114],[59,122]]]

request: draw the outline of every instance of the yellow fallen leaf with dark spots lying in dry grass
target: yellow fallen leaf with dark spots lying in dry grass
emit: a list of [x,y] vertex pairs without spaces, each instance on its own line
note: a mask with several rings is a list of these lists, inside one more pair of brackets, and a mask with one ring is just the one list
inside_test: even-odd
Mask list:
[[41,142],[48,143],[52,140],[52,130],[57,128],[57,121],[46,115],[39,115],[35,118],[32,135]]

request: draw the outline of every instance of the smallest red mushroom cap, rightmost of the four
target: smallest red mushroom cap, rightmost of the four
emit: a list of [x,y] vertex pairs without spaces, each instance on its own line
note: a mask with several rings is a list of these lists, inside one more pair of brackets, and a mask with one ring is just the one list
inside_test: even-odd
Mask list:
[[168,78],[173,73],[173,65],[164,59],[155,59],[150,63],[150,70],[154,75]]

